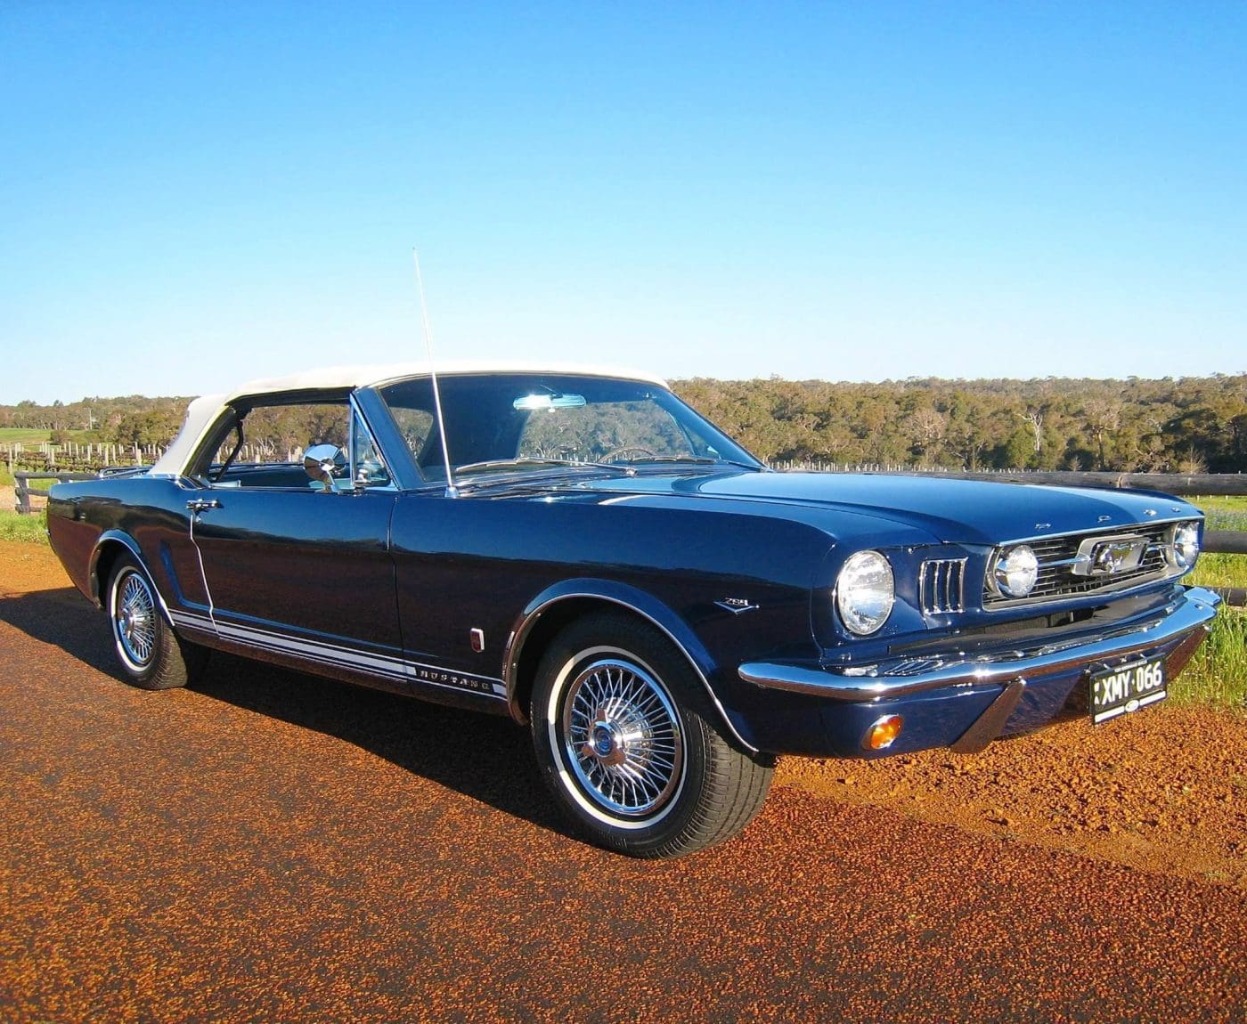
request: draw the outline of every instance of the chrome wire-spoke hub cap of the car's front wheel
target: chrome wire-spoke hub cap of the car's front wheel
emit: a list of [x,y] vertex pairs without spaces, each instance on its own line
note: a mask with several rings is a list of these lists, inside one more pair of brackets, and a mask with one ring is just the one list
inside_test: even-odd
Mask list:
[[683,740],[667,691],[626,661],[600,660],[567,687],[566,760],[584,791],[614,814],[658,811],[678,790]]

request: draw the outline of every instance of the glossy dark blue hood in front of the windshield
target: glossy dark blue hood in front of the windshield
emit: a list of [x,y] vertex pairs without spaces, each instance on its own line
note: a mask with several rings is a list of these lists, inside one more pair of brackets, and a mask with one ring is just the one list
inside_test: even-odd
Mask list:
[[[1147,491],[839,473],[662,474],[595,480],[577,490],[645,504],[711,499],[774,515],[787,506],[833,536],[860,534],[863,518],[920,530],[936,541],[1000,544],[1140,523],[1197,518],[1178,498]],[[650,500],[646,500],[650,499]],[[799,513],[797,510],[801,510]],[[743,511],[744,509],[742,509]],[[889,531],[890,533],[890,531]]]

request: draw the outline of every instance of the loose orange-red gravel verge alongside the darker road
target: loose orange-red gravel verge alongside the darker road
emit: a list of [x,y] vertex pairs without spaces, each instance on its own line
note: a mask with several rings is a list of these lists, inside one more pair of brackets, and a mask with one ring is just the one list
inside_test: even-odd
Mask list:
[[[47,548],[0,541],[0,595],[69,586]],[[1134,868],[1247,889],[1247,716],[1160,706],[974,756],[784,758],[776,785]]]

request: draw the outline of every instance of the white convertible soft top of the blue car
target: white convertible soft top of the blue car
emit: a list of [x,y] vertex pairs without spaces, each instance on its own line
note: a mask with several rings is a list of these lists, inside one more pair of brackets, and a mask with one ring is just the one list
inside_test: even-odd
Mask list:
[[[436,363],[439,375],[454,377],[478,373],[566,373],[577,377],[617,377],[624,380],[643,380],[667,388],[661,377],[616,367],[586,367],[571,363],[486,363],[450,362]],[[152,475],[177,476],[186,469],[191,455],[200,447],[208,428],[216,423],[221,410],[241,398],[279,394],[298,390],[334,390],[338,388],[365,388],[398,380],[404,377],[428,377],[429,363],[392,363],[380,365],[325,367],[292,373],[286,377],[268,377],[251,380],[227,394],[206,394],[196,398],[186,409],[182,429],[156,464]]]

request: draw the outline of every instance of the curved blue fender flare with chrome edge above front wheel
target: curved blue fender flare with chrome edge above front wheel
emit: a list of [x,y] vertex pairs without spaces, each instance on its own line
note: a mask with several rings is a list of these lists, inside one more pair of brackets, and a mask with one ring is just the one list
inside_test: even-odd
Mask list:
[[633,615],[638,615],[651,625],[661,630],[667,639],[676,645],[676,649],[687,659],[693,675],[706,691],[720,722],[742,747],[751,753],[757,753],[757,747],[749,743],[732,722],[718,695],[710,685],[710,677],[716,674],[716,665],[706,645],[688,627],[688,625],[667,605],[638,587],[616,580],[602,580],[595,577],[581,577],[560,580],[537,594],[520,612],[511,627],[506,641],[506,650],[503,659],[503,679],[506,683],[506,700],[511,710],[511,716],[518,721],[526,720],[524,708],[524,672],[525,649],[535,636],[544,636],[539,626],[551,614],[566,610],[571,602],[582,605],[610,605],[622,607]]

